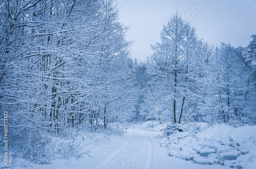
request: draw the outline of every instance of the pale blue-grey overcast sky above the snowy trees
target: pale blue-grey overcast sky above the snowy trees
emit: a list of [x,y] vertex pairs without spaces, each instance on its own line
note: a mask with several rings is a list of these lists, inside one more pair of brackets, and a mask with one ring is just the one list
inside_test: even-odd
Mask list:
[[160,41],[163,24],[176,11],[195,26],[199,38],[214,45],[246,46],[256,34],[256,0],[119,0],[119,17],[130,25],[132,57],[144,60]]

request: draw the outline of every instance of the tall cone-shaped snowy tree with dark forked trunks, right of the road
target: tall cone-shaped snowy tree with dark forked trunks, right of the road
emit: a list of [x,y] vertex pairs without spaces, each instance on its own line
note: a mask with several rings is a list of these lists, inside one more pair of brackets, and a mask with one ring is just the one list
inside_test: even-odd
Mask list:
[[[150,93],[157,92],[162,98],[158,100],[162,104],[158,107],[162,107],[162,110],[156,110],[155,114],[163,111],[174,123],[181,123],[184,112],[187,113],[194,106],[189,102],[195,101],[199,83],[200,63],[203,61],[201,41],[197,38],[195,28],[176,13],[163,26],[161,42],[153,45],[152,49],[154,54],[148,70],[152,80],[148,97],[152,97]],[[152,105],[148,103],[144,107]],[[150,108],[144,109],[144,112],[149,111]]]

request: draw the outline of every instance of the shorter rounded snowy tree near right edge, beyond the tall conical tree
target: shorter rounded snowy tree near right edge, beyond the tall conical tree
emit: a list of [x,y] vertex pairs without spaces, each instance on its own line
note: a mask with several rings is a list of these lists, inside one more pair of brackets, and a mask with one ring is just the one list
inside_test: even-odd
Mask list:
[[215,123],[248,123],[244,114],[248,113],[249,107],[255,106],[249,103],[251,99],[247,97],[248,93],[253,94],[253,87],[246,56],[245,48],[234,48],[230,44],[222,43],[215,49],[207,63],[200,102],[200,111],[210,118],[208,120]]

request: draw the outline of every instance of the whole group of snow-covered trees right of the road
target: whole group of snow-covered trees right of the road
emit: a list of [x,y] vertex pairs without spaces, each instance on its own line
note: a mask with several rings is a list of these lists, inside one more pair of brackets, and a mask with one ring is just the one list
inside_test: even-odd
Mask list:
[[247,47],[214,47],[172,15],[152,57],[137,64],[147,80],[138,114],[160,123],[255,124],[256,35],[251,38]]

